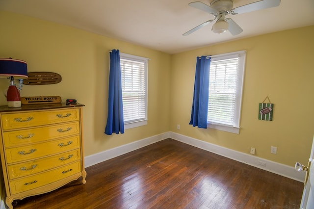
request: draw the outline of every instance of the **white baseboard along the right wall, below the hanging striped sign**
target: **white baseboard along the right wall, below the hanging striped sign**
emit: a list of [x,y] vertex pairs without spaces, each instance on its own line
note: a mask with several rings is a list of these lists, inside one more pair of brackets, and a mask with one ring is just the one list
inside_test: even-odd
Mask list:
[[[185,144],[192,145],[194,147],[215,153],[220,156],[228,157],[236,161],[266,170],[299,182],[304,182],[305,172],[297,172],[294,167],[267,160],[261,157],[252,156],[249,154],[241,153],[235,150],[231,150],[225,147],[221,147],[209,142],[191,138],[179,133],[170,132],[169,137],[177,141],[181,141]],[[265,162],[266,166],[259,165],[259,161]]]

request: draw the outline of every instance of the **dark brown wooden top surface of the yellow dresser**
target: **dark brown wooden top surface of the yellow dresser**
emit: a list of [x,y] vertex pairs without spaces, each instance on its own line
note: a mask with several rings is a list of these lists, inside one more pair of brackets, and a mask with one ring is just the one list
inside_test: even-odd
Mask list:
[[22,104],[21,107],[8,107],[7,105],[0,106],[0,112],[14,112],[24,110],[39,110],[39,109],[55,109],[55,108],[71,108],[85,106],[84,104],[55,103],[55,104]]

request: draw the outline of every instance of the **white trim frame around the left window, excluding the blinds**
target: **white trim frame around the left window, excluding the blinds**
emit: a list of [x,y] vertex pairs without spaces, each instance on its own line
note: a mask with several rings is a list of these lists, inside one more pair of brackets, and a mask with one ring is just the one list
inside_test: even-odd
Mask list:
[[132,55],[132,54],[127,54],[127,53],[122,53],[120,52],[120,60],[122,59],[128,59],[128,60],[132,60],[132,61],[140,61],[140,62],[144,62],[144,79],[145,79],[145,89],[146,89],[146,95],[145,95],[145,104],[146,104],[146,108],[145,108],[145,119],[141,119],[138,121],[132,121],[129,123],[124,123],[124,129],[132,129],[132,128],[136,128],[139,126],[145,126],[147,125],[147,121],[148,121],[148,115],[147,115],[147,109],[148,109],[148,61],[150,60],[149,58],[146,57],[141,57],[141,56],[136,56],[136,55]]

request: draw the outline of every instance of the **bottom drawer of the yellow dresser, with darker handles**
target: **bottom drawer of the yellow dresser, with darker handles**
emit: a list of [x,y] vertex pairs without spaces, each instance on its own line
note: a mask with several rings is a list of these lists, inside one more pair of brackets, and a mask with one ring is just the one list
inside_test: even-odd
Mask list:
[[11,194],[17,194],[56,182],[81,172],[80,161],[29,177],[10,181]]

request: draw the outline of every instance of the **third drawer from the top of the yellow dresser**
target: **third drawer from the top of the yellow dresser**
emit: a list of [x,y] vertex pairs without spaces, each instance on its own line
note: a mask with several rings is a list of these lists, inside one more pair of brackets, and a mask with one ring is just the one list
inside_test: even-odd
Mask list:
[[77,135],[45,143],[9,148],[5,150],[5,154],[7,163],[12,163],[66,152],[79,147],[80,136]]

